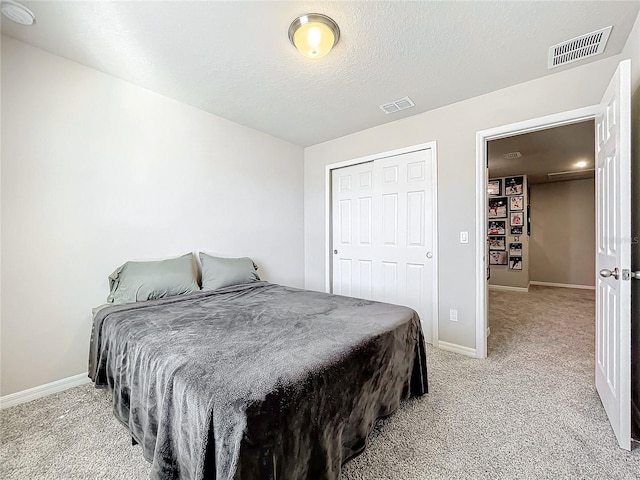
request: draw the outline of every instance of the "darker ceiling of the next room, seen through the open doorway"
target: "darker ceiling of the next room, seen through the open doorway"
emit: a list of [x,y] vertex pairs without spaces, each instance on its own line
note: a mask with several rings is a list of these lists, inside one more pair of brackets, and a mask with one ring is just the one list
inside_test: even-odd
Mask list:
[[[520,152],[521,158],[504,155]],[[528,175],[529,183],[547,183],[549,173],[580,172],[595,168],[593,120],[523,135],[493,140],[488,144],[489,176]],[[576,163],[586,161],[583,168]],[[585,175],[591,178],[593,173]]]

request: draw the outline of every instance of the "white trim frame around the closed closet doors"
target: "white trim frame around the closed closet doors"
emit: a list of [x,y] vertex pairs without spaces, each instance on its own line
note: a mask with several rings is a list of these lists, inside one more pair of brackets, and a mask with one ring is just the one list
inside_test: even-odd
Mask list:
[[433,333],[433,345],[438,345],[438,150],[437,150],[437,142],[434,140],[432,142],[420,143],[417,145],[411,145],[409,147],[398,148],[395,150],[389,150],[386,152],[374,153],[373,155],[366,155],[364,157],[353,158],[351,160],[345,160],[343,162],[331,163],[325,166],[325,189],[324,189],[324,198],[325,198],[325,221],[324,221],[324,232],[325,232],[325,291],[327,293],[331,293],[331,285],[333,279],[333,265],[331,261],[331,251],[333,250],[333,229],[332,229],[332,217],[331,217],[331,172],[338,168],[350,167],[352,165],[358,165],[360,163],[373,162],[375,160],[379,160],[381,158],[394,157],[397,155],[404,155],[405,153],[418,152],[420,150],[431,150],[433,152],[433,161],[431,162],[431,175],[433,178],[433,191],[432,191],[432,202],[433,202],[433,293],[432,293],[432,305],[433,305],[433,316],[432,316],[432,333]]

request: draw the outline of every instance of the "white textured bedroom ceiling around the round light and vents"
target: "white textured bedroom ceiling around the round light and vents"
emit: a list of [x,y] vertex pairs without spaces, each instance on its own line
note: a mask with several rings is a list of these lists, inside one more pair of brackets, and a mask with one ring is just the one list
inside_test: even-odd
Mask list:
[[[215,115],[308,146],[620,53],[640,2],[23,1],[2,33]],[[326,57],[287,29],[340,25]],[[547,69],[553,45],[613,25],[603,55]],[[416,107],[378,105],[408,95]]]

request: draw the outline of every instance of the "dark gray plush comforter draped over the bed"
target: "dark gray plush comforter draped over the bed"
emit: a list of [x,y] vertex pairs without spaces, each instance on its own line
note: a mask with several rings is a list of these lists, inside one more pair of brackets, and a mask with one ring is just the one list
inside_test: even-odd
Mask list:
[[89,376],[152,478],[337,479],[427,391],[413,310],[266,282],[99,311]]

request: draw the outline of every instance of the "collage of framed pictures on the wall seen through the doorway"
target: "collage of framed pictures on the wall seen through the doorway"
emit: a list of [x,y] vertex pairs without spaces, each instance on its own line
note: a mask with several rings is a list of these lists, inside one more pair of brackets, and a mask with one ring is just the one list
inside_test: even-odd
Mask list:
[[508,265],[509,270],[522,270],[520,237],[526,222],[524,189],[524,175],[492,178],[488,182],[489,265]]

